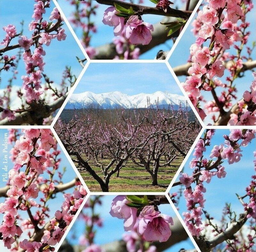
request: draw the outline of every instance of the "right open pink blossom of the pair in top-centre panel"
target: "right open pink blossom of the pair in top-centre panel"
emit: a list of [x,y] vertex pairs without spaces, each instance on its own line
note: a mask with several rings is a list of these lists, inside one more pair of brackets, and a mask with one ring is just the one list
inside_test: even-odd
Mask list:
[[125,38],[136,45],[147,45],[152,39],[151,31],[154,31],[153,25],[143,22],[138,16],[131,16],[125,24]]

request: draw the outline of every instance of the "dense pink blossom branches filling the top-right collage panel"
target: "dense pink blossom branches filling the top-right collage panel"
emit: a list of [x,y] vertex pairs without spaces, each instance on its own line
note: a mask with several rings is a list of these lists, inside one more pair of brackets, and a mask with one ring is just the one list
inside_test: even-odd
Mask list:
[[[206,102],[202,96],[202,91],[210,91],[214,98],[213,101],[205,103],[205,109],[208,113],[219,113],[216,118],[215,114],[212,119],[215,123],[227,124],[224,122],[224,109],[232,107],[232,99],[236,99],[236,88],[234,80],[239,76],[243,68],[241,51],[247,43],[250,32],[246,32],[249,23],[245,20],[245,14],[252,9],[252,2],[248,1],[207,1],[203,10],[198,12],[197,18],[193,21],[193,32],[197,36],[196,43],[190,47],[192,65],[188,69],[188,76],[182,86],[188,94],[189,99],[196,108],[200,117],[206,117],[205,111],[200,107],[200,102]],[[241,24],[238,21],[241,20]],[[204,42],[209,42],[209,46],[204,46]],[[236,42],[239,42],[239,46]],[[238,52],[238,55],[231,55],[227,50],[230,47]],[[250,54],[250,50],[247,50]],[[250,56],[248,57],[248,59]],[[231,63],[226,64],[230,60]],[[228,84],[222,83],[221,80],[214,77],[222,77],[225,69],[230,72],[227,77]],[[223,91],[218,96],[215,88],[221,87]],[[225,90],[227,89],[227,90]],[[229,124],[235,125],[253,125],[254,116],[248,113],[244,101],[238,102],[239,110],[232,110]],[[235,111],[235,112],[234,112]],[[239,115],[239,111],[242,114]],[[242,118],[241,118],[242,117]],[[241,118],[241,120],[240,120]]]

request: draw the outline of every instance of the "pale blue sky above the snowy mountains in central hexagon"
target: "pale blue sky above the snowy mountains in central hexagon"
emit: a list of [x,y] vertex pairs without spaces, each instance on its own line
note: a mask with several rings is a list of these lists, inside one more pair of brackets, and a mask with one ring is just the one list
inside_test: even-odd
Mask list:
[[164,63],[91,63],[74,94],[120,91],[128,95],[169,91],[182,95]]

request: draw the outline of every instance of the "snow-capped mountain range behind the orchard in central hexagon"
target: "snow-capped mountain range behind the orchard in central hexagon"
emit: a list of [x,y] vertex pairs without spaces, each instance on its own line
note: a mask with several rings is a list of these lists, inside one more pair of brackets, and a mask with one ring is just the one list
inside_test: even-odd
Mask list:
[[110,92],[103,94],[94,94],[92,92],[84,92],[81,94],[71,95],[65,109],[83,109],[83,108],[146,108],[148,107],[148,99],[151,104],[155,105],[158,101],[160,108],[167,108],[172,104],[177,109],[181,104],[186,107],[186,98],[181,95],[171,94],[169,92],[157,91],[153,94],[126,95],[121,92]]

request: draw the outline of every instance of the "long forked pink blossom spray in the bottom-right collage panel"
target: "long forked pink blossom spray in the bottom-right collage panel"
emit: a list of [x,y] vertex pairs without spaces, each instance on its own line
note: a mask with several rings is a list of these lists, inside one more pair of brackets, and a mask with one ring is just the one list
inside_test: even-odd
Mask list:
[[[202,223],[202,214],[204,209],[204,193],[206,188],[204,182],[210,183],[214,176],[219,179],[225,178],[225,167],[221,164],[224,160],[228,164],[240,161],[242,157],[241,148],[247,146],[255,138],[254,130],[230,130],[229,135],[224,135],[224,144],[215,145],[209,159],[204,157],[206,147],[211,145],[211,139],[214,136],[214,130],[206,130],[204,137],[200,138],[194,149],[193,158],[189,166],[194,169],[191,176],[187,173],[180,175],[180,183],[185,185],[184,197],[188,211],[183,213],[185,223],[189,231],[194,236],[199,236],[204,229]],[[195,183],[194,189],[192,184]]]

